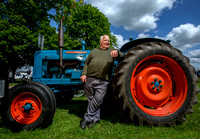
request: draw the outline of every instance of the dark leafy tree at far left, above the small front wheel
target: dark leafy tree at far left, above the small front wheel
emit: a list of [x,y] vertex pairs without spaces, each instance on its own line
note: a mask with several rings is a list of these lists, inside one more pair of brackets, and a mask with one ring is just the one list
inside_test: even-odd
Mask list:
[[39,30],[55,34],[48,19],[48,11],[53,5],[48,0],[5,0],[0,3],[0,60],[13,72],[25,64],[33,65],[34,53],[39,50]]

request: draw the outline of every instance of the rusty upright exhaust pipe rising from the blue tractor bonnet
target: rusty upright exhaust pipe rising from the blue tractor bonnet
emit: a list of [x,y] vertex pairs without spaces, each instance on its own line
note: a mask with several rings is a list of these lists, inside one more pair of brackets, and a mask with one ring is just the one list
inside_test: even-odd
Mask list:
[[60,19],[60,28],[58,32],[59,48],[60,48],[60,67],[63,68],[63,47],[64,47],[64,30],[62,27],[62,19]]

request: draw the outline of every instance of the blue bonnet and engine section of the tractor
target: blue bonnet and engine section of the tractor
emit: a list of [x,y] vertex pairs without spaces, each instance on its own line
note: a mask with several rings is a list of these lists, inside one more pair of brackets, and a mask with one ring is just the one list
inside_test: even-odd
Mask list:
[[53,92],[83,89],[81,72],[90,50],[63,50],[63,68],[59,65],[59,50],[35,53],[33,81],[48,85]]

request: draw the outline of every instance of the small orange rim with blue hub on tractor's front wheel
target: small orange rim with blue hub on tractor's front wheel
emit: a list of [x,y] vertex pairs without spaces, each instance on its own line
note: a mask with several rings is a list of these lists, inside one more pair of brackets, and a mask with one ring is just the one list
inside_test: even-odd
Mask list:
[[24,92],[14,98],[10,109],[15,121],[20,124],[31,124],[40,117],[42,103],[33,93]]

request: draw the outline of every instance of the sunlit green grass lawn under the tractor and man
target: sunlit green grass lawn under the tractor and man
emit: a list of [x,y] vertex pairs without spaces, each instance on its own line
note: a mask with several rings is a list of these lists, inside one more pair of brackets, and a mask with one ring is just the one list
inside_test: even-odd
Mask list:
[[[198,83],[200,88],[200,81]],[[197,95],[200,100],[200,94]],[[79,122],[86,111],[85,97],[73,98],[66,105],[56,109],[53,123],[45,129],[20,131],[13,133],[4,127],[0,119],[0,137],[2,138],[199,138],[200,102],[193,107],[193,114],[187,115],[187,121],[174,127],[137,126],[126,119],[124,113],[102,115],[99,125],[81,130]]]

